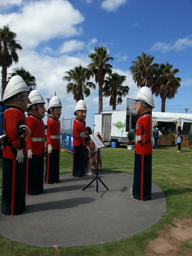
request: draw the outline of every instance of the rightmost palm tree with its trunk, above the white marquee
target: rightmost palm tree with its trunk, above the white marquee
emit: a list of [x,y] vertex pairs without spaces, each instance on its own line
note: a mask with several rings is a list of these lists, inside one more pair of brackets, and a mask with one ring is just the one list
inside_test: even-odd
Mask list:
[[173,65],[170,65],[168,62],[159,64],[152,86],[152,93],[154,93],[156,97],[161,97],[161,112],[165,112],[166,99],[173,99],[180,86],[180,77],[175,77],[179,69],[172,67]]

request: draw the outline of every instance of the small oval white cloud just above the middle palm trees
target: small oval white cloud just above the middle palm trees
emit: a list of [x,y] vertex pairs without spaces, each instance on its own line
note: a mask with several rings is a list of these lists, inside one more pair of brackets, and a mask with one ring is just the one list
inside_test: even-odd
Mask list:
[[64,42],[63,45],[61,45],[59,51],[61,53],[73,52],[73,51],[82,50],[84,46],[85,46],[84,42],[80,42],[77,40],[70,40],[70,41]]

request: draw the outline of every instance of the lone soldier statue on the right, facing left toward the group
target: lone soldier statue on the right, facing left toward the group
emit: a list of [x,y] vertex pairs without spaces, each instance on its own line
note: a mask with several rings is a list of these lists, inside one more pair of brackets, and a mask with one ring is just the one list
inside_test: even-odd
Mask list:
[[151,200],[152,187],[152,108],[154,99],[151,90],[144,86],[136,96],[136,145],[134,159],[134,180],[132,198]]

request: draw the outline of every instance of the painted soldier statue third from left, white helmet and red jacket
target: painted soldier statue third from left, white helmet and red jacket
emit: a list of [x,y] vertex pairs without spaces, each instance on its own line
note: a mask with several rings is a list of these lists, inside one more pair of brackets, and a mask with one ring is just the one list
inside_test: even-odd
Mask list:
[[45,183],[53,184],[60,182],[60,116],[61,100],[54,96],[49,101],[47,113],[47,136],[46,136],[46,170]]

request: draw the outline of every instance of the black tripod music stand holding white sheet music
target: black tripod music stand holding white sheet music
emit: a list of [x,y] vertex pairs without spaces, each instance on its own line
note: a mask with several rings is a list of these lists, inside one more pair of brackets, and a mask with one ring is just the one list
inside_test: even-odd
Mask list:
[[102,180],[99,178],[99,148],[104,148],[106,146],[102,143],[102,141],[100,141],[100,139],[99,139],[99,137],[97,135],[90,134],[90,137],[92,138],[92,140],[95,143],[95,145],[97,145],[97,147],[98,147],[98,151],[97,151],[97,174],[96,174],[96,177],[83,189],[83,191],[86,188],[88,188],[88,186],[90,186],[96,180],[96,182],[97,182],[96,183],[97,184],[96,191],[98,193],[99,192],[99,182],[98,181],[100,181],[103,184],[103,186],[107,190],[109,190],[108,187],[106,186],[106,184],[104,184],[104,182],[102,182]]

